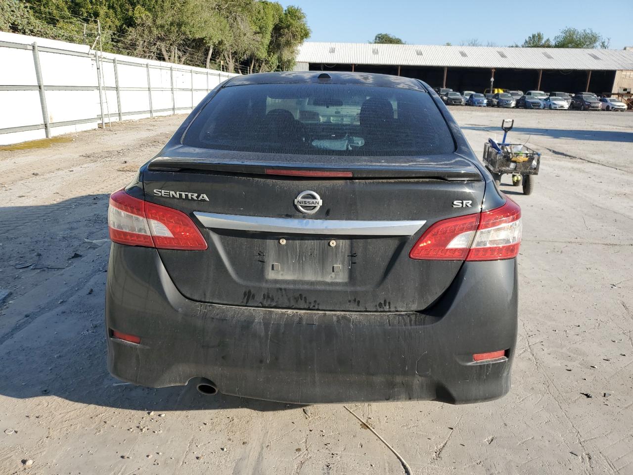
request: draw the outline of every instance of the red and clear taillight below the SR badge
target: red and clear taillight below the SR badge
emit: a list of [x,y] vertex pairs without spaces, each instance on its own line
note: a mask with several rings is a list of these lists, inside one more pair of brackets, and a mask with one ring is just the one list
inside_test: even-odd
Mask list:
[[422,260],[501,260],[516,257],[521,208],[514,201],[491,211],[444,219],[422,234],[409,253]]

